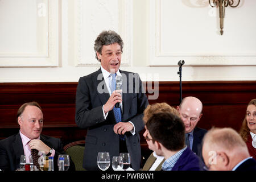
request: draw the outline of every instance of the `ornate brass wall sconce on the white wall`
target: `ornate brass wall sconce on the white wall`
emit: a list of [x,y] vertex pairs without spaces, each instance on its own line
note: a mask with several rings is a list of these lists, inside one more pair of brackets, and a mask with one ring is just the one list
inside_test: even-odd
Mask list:
[[[234,5],[234,0],[209,0],[209,4],[212,7],[219,7],[220,9],[220,33],[223,34],[223,22],[225,17],[225,7],[237,7],[240,3],[240,0],[238,0],[238,3],[236,6]],[[212,5],[213,4],[213,5]]]

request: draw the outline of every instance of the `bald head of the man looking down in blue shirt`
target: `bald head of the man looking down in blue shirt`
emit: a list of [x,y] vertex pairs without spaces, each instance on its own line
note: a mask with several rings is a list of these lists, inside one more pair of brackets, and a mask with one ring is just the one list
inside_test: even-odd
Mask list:
[[202,117],[203,104],[196,97],[185,97],[177,106],[177,111],[179,111],[182,121],[185,125],[185,133],[190,133],[195,129],[197,122]]

